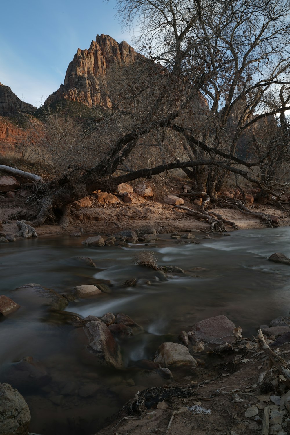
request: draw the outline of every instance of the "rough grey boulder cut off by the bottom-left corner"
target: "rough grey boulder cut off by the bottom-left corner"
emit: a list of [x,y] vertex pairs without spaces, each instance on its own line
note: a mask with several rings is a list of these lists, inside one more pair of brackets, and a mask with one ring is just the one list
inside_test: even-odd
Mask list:
[[0,435],[27,435],[30,411],[23,396],[9,384],[0,384]]

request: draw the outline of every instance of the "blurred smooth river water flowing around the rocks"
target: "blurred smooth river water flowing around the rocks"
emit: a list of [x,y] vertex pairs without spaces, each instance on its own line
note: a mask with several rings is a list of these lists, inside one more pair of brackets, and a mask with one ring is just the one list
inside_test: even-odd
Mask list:
[[[28,301],[0,322],[0,382],[11,383],[24,395],[32,414],[31,432],[96,432],[132,395],[134,385],[144,388],[156,381],[134,367],[134,361],[151,359],[162,342],[177,341],[181,330],[199,320],[223,314],[248,336],[260,324],[289,314],[290,267],[267,261],[274,252],[290,256],[289,228],[203,237],[196,233],[200,244],[179,245],[168,234],[160,235],[154,248],[87,248],[81,245],[85,237],[0,245],[0,294],[16,302],[13,289],[29,282],[60,293],[80,284],[109,280],[112,285],[110,294],[71,302],[65,313],[31,308]],[[175,265],[185,274],[161,281],[157,272],[134,265],[134,253],[144,249],[154,251],[160,266]],[[76,255],[92,258],[97,269],[77,264],[72,260]],[[122,288],[128,278],[137,278],[137,285]],[[143,334],[120,342],[127,367],[122,371],[85,364],[78,328],[68,321],[71,313],[100,317],[107,311],[123,312],[144,328]],[[28,356],[40,361],[40,381],[29,381],[35,373],[27,375],[28,363],[17,365]]]

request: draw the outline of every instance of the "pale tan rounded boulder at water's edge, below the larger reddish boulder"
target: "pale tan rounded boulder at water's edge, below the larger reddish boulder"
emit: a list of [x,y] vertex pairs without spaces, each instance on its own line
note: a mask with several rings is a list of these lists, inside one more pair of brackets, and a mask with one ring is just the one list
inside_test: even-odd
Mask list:
[[188,349],[178,343],[163,343],[157,349],[154,361],[161,365],[197,367],[197,361],[190,355]]

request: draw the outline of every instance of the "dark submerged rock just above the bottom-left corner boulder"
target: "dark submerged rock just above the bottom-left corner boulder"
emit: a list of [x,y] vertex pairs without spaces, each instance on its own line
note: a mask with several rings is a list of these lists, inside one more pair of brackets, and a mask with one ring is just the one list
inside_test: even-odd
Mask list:
[[10,364],[1,373],[1,378],[19,390],[36,391],[51,381],[50,375],[40,362],[33,357],[25,357]]

